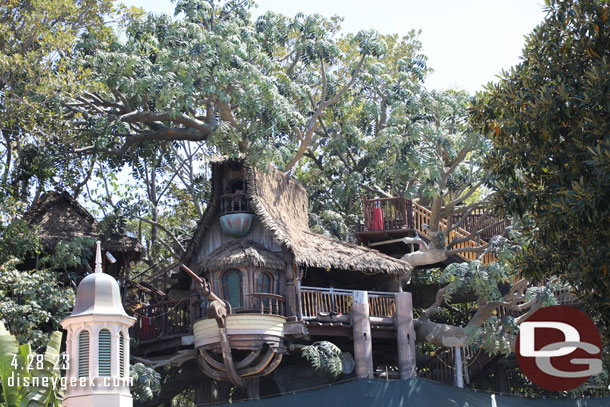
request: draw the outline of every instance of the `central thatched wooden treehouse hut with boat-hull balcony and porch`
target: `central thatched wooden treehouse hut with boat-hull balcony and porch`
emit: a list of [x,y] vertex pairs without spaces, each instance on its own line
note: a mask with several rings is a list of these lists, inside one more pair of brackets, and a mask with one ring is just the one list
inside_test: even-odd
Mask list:
[[[228,343],[241,355],[237,375],[248,380],[268,375],[299,344],[336,336],[351,341],[350,310],[358,290],[368,291],[370,315],[379,322],[372,337],[395,337],[387,328],[399,279],[411,271],[407,263],[311,232],[305,189],[274,168],[218,160],[211,183],[208,207],[182,262],[229,305]],[[180,281],[186,289],[191,278],[182,274]],[[213,318],[205,318],[205,299],[191,298],[193,340],[184,340],[185,332],[182,343],[194,342],[208,377],[236,384],[227,373],[231,352],[221,346],[224,328],[219,331]]]

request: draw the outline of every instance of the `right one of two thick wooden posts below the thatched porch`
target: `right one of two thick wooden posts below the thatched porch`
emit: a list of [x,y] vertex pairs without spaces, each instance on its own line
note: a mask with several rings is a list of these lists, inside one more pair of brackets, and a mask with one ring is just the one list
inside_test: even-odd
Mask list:
[[413,301],[411,293],[394,294],[396,302],[396,342],[398,344],[398,369],[400,379],[406,380],[417,376],[415,369],[415,325],[413,323]]

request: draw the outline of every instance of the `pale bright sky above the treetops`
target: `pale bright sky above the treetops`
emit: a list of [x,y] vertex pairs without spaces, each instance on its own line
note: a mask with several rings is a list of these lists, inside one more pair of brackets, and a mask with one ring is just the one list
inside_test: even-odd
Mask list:
[[[170,0],[122,0],[126,5],[173,15]],[[428,89],[482,90],[502,69],[520,61],[524,36],[544,18],[543,0],[258,0],[253,16],[267,11],[344,18],[343,31],[376,29],[405,35],[421,30]]]

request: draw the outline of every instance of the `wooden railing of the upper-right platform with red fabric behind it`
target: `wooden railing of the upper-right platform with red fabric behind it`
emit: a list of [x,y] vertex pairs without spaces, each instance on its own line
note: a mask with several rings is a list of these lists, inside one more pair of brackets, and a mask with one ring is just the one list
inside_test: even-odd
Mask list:
[[366,231],[397,230],[413,227],[411,200],[398,198],[363,199]]

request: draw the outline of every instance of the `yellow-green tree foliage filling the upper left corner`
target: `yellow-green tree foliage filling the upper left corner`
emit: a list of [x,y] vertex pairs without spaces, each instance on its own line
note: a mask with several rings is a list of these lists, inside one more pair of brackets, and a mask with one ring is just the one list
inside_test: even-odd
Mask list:
[[[106,41],[112,0],[26,0],[0,7],[0,197],[24,200],[35,187],[74,185],[83,162],[66,154],[61,95],[87,84],[73,63],[81,36]],[[32,187],[32,188],[30,188]]]

